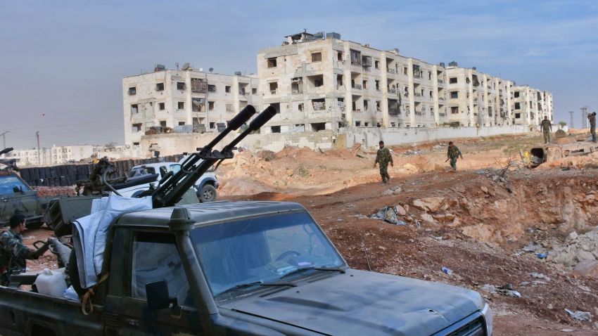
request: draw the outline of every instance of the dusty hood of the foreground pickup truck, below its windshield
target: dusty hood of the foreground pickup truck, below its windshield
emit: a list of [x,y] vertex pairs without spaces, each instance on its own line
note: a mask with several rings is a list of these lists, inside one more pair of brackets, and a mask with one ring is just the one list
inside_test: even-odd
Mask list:
[[483,305],[473,290],[356,270],[318,274],[298,287],[219,304],[323,334],[367,336],[431,335]]

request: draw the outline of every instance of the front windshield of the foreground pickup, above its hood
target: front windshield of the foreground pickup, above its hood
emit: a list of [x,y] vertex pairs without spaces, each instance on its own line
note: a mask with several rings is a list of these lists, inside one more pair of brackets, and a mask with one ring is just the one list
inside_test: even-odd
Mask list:
[[191,231],[191,240],[214,296],[236,285],[273,282],[298,269],[345,266],[306,212],[204,226]]

